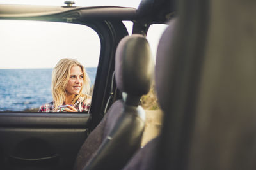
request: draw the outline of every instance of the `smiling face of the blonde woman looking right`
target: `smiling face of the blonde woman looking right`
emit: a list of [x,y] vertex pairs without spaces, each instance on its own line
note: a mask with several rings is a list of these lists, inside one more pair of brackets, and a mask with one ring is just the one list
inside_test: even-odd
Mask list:
[[80,90],[83,87],[83,71],[80,66],[72,66],[70,69],[70,77],[68,84],[65,87],[67,95],[79,94]]

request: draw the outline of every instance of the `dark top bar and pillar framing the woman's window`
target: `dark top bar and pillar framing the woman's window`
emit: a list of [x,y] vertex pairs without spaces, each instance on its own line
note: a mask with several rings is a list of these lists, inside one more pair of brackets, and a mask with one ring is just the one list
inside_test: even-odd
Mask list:
[[[102,10],[99,17],[99,10]],[[113,10],[113,13],[109,13]],[[111,76],[115,69],[115,50],[120,39],[128,35],[125,25],[122,23],[121,19],[115,17],[116,13],[127,15],[127,20],[132,20],[136,18],[136,9],[134,8],[120,8],[120,7],[85,7],[85,8],[73,8],[71,10],[58,12],[49,12],[50,15],[36,15],[31,13],[28,15],[10,15],[9,17],[0,15],[0,19],[8,20],[39,20],[39,21],[49,21],[49,22],[67,22],[73,24],[86,25],[92,28],[100,38],[100,56],[99,64],[97,69],[97,74],[95,78],[95,87],[92,95],[92,105],[90,108],[90,130],[99,124],[102,117],[104,117],[105,105],[108,101],[109,93],[111,90]],[[30,15],[30,16],[29,16]],[[81,16],[77,19],[77,15]],[[122,16],[120,15],[120,18]],[[116,88],[115,88],[115,92]],[[115,101],[115,99],[113,99]],[[100,106],[99,106],[100,104]],[[20,114],[22,113],[22,114]],[[19,116],[31,116],[27,112],[17,113]],[[49,113],[42,113],[45,117]],[[82,113],[83,114],[83,113]],[[13,115],[13,114],[11,114]],[[15,115],[13,115],[15,116]],[[16,115],[17,116],[17,115]],[[87,117],[88,115],[84,115]]]

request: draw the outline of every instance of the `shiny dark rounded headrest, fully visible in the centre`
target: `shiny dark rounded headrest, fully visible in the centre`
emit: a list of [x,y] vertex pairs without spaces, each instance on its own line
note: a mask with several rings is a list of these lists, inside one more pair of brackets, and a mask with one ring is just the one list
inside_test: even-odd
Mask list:
[[116,48],[115,78],[119,90],[141,97],[150,90],[154,60],[147,39],[140,34],[125,36]]

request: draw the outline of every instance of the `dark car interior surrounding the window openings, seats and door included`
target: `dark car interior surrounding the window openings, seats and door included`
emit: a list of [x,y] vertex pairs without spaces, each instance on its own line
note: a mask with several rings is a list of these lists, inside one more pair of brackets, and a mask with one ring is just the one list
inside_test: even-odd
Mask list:
[[[142,0],[138,9],[0,5],[0,20],[87,25],[100,38],[89,114],[0,113],[0,169],[255,169],[254,1]],[[128,35],[122,21],[133,22]],[[167,24],[156,65],[148,28]],[[1,41],[1,40],[0,40]],[[156,83],[161,133],[140,147]]]

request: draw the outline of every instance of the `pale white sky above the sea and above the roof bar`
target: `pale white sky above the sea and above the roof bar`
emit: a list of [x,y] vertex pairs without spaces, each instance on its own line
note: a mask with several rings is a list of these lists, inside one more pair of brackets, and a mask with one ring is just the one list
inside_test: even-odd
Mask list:
[[[92,0],[75,1],[77,6],[129,6],[138,8],[140,1]],[[4,1],[0,4],[63,5],[63,1]],[[132,22],[124,22],[129,34]],[[166,25],[153,25],[148,31],[152,53]],[[93,29],[79,24],[0,20],[0,69],[53,68],[58,60],[68,57],[85,67],[97,67],[100,39]]]

